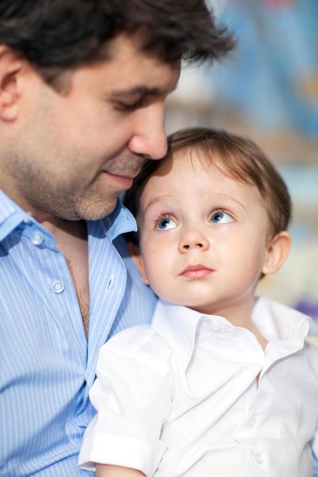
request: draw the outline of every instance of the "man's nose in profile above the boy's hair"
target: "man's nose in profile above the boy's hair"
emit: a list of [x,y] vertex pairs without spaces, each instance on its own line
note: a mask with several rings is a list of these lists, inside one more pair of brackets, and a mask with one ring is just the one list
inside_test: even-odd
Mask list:
[[136,111],[134,133],[128,148],[150,159],[162,159],[167,152],[163,104],[158,102]]

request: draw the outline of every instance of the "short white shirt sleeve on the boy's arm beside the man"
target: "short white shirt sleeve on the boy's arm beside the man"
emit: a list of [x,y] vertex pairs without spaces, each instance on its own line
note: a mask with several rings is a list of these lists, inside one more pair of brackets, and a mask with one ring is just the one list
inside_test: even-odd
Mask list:
[[160,440],[171,410],[167,364],[109,342],[100,351],[96,374],[89,397],[97,414],[85,432],[78,464],[85,470],[93,470],[94,462],[119,465],[153,476],[167,448]]

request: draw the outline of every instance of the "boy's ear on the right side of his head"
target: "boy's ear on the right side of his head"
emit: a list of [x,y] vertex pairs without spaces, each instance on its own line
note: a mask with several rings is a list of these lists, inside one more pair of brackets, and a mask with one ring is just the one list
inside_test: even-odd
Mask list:
[[283,230],[269,240],[266,247],[266,257],[262,273],[272,275],[281,268],[290,249],[290,235]]

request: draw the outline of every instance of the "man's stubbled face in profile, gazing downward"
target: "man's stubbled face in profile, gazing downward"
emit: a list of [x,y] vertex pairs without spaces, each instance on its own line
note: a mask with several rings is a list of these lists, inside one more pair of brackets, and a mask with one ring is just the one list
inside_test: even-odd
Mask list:
[[144,157],[166,152],[163,102],[179,64],[145,55],[124,35],[109,51],[110,59],[71,73],[64,93],[33,73],[32,91],[21,102],[25,114],[3,155],[10,183],[31,211],[68,220],[105,217]]

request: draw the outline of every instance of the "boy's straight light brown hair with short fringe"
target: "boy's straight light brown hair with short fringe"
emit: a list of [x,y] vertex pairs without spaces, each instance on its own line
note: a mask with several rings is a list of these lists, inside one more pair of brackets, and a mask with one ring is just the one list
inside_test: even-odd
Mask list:
[[[182,149],[194,151],[204,164],[219,167],[226,176],[258,188],[271,225],[268,238],[274,238],[287,229],[291,218],[291,200],[287,186],[255,143],[224,130],[189,128],[168,136],[166,157]],[[124,205],[135,217],[139,211],[140,187],[159,168],[160,163],[161,161],[147,159],[125,194]],[[135,244],[139,242],[135,232],[127,234],[127,238]]]

